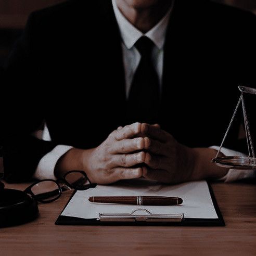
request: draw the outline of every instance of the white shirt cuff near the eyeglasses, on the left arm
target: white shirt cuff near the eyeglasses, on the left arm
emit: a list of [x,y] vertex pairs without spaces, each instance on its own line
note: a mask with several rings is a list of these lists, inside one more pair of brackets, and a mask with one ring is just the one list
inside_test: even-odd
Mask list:
[[56,180],[54,175],[55,165],[60,157],[62,157],[71,148],[73,147],[58,145],[52,151],[47,153],[37,165],[33,178],[37,178],[38,180],[44,180],[45,178]]

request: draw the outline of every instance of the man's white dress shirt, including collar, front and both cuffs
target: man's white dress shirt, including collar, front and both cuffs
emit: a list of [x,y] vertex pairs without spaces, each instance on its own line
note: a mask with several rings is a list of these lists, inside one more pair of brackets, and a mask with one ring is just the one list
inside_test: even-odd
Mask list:
[[[173,1],[174,3],[174,1]],[[112,5],[114,9],[114,15],[116,16],[117,23],[119,26],[121,38],[122,38],[122,53],[123,53],[123,64],[125,71],[125,88],[126,88],[126,98],[129,96],[132,80],[134,73],[139,65],[140,54],[135,48],[134,44],[142,36],[147,36],[155,44],[152,50],[152,61],[153,65],[158,74],[160,91],[162,85],[162,71],[163,71],[163,46],[165,40],[165,33],[167,31],[167,26],[169,18],[172,12],[172,6],[167,12],[167,14],[146,34],[143,34],[137,30],[121,13],[118,9],[116,0],[112,0]],[[37,136],[38,137],[38,136]],[[45,124],[44,131],[41,139],[50,140],[49,132]],[[34,177],[42,180],[43,178],[55,178],[54,168],[58,159],[64,155],[72,147],[67,145],[58,145],[52,151],[47,153],[39,162],[39,165],[36,168]],[[219,147],[212,146],[211,148],[218,150]],[[241,153],[228,150],[223,148],[221,152],[225,156],[237,156]],[[253,171],[244,171],[244,170],[229,170],[227,175],[221,180],[225,182],[231,182],[238,180],[239,178],[250,177],[253,175]]]

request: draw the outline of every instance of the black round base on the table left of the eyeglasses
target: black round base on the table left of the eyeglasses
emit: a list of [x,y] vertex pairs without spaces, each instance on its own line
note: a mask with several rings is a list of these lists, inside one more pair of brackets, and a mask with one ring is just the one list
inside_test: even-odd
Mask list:
[[8,188],[0,190],[0,227],[32,221],[38,213],[37,201],[27,193]]

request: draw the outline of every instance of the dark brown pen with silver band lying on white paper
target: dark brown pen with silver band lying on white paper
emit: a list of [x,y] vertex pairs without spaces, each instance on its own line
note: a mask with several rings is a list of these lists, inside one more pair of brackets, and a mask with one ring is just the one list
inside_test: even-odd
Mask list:
[[172,206],[183,202],[180,197],[160,196],[89,197],[88,200],[97,203],[121,203],[137,206]]

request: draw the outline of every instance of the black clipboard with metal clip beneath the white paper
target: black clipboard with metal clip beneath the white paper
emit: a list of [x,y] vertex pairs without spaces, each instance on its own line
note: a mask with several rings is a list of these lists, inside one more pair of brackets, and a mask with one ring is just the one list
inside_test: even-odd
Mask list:
[[125,214],[101,214],[99,215],[99,219],[82,219],[79,217],[70,217],[70,216],[62,216],[61,213],[67,207],[69,201],[74,196],[76,191],[72,194],[66,206],[61,211],[58,219],[55,222],[55,225],[121,225],[121,226],[225,226],[225,222],[223,220],[221,211],[219,206],[217,205],[217,201],[215,199],[213,190],[211,185],[207,182],[208,188],[210,191],[211,199],[217,214],[217,219],[190,219],[184,217],[183,214],[172,214],[172,216],[161,215],[155,216],[150,215],[151,213],[145,209],[140,209],[147,211],[146,217],[142,215],[137,215],[136,211],[132,213]]

